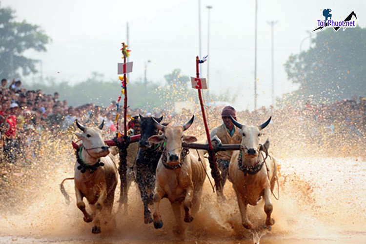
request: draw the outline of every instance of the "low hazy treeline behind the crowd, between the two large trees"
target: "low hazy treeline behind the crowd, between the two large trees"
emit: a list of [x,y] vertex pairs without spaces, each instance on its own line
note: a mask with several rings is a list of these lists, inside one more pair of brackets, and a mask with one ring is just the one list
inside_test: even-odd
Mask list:
[[[129,81],[127,84],[128,105],[131,108],[141,108],[154,111],[156,108],[173,110],[174,102],[197,102],[197,91],[190,87],[188,77],[180,75],[179,69],[164,76],[166,84],[154,82]],[[183,78],[182,78],[183,77]],[[56,82],[47,78],[44,82],[25,84],[28,90],[41,89],[45,94],[60,93],[60,100],[67,100],[69,105],[80,106],[85,103],[94,103],[100,106],[109,106],[121,94],[121,81],[105,81],[103,76],[93,72],[91,77],[75,85],[67,81]],[[122,95],[123,97],[123,95]],[[228,90],[220,95],[212,94],[206,98],[210,101],[234,102],[235,96],[229,95]],[[123,101],[121,100],[121,104]]]

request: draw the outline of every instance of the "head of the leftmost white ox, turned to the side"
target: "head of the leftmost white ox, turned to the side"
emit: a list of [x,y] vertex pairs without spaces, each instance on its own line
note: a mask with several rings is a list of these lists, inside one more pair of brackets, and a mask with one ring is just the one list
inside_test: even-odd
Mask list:
[[105,157],[109,154],[109,147],[104,144],[102,139],[102,123],[96,127],[86,127],[79,124],[78,120],[75,120],[76,125],[82,131],[82,133],[75,132],[74,134],[81,139],[82,145],[93,158]]

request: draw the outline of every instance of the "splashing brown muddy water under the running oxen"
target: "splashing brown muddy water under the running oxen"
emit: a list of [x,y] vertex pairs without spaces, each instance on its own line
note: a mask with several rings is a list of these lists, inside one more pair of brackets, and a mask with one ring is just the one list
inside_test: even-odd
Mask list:
[[[9,199],[0,195],[1,243],[183,242],[172,233],[174,218],[166,199],[161,204],[163,228],[156,230],[152,224],[143,224],[142,201],[134,183],[129,191],[128,212],[124,214],[115,204],[115,224],[102,226],[101,234],[92,234],[92,225],[82,221],[76,207],[73,182],[65,183],[72,199],[70,205],[65,204],[59,190],[62,179],[72,176],[73,160],[71,156],[60,159],[43,175],[21,182]],[[206,180],[201,210],[191,224],[185,225],[185,242],[366,243],[365,160],[313,157],[278,158],[278,162],[281,195],[279,201],[273,199],[276,224],[271,231],[261,227],[265,218],[263,203],[249,207],[249,219],[256,228],[248,231],[241,225],[231,183],[224,188],[226,202],[218,204]]]

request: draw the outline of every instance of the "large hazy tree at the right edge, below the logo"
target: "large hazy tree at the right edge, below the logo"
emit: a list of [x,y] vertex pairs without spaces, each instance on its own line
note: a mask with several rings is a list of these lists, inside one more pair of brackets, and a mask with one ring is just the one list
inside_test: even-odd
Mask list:
[[300,83],[295,100],[332,102],[366,95],[366,28],[319,31],[315,46],[291,55],[285,63],[288,78]]

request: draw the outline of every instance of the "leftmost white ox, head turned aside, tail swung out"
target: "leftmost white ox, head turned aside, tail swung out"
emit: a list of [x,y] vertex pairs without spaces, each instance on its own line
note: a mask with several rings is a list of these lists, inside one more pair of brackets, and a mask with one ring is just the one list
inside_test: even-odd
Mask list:
[[[82,131],[75,133],[82,141],[75,164],[76,204],[84,214],[84,221],[86,223],[93,221],[92,233],[97,234],[101,232],[102,213],[111,215],[112,212],[118,182],[117,166],[113,155],[108,155],[109,147],[102,139],[104,121],[97,127],[84,127],[78,121],[76,124]],[[62,183],[61,192],[68,200]],[[91,215],[85,209],[85,203],[82,201],[84,197],[92,210]]]

